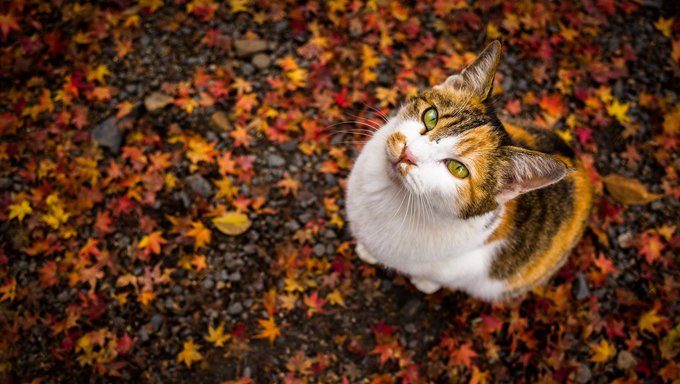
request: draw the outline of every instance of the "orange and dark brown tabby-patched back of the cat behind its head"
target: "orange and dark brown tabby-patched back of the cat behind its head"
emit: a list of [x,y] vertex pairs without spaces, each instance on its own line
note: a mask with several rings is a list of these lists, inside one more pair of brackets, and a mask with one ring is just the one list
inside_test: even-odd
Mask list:
[[530,123],[503,123],[513,145],[551,154],[572,170],[561,181],[506,203],[504,224],[493,236],[504,239],[506,245],[490,272],[506,281],[512,295],[542,282],[562,266],[586,226],[592,188],[574,151],[557,134]]

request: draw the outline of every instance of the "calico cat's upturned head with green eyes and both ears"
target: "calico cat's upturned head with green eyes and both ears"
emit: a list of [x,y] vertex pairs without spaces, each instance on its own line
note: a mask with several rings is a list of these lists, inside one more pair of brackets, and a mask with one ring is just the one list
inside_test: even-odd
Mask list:
[[389,124],[390,176],[440,212],[490,212],[568,172],[550,155],[512,146],[490,100],[500,55],[501,44],[491,43],[461,73],[406,102]]

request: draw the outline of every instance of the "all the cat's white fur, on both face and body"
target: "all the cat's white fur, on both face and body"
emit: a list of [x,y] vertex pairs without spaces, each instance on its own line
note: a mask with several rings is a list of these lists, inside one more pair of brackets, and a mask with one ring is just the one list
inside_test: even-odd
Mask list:
[[[445,160],[457,159],[469,168],[472,163],[456,153],[456,137],[432,142],[420,134],[422,128],[420,121],[392,118],[356,160],[348,181],[347,214],[357,252],[368,262],[409,275],[426,293],[443,286],[497,299],[505,284],[490,278],[489,268],[502,244],[485,241],[498,225],[499,212],[468,220],[457,216],[457,191],[468,180],[452,176]],[[387,137],[395,131],[406,136],[416,158],[417,166],[405,177],[386,155]]]

